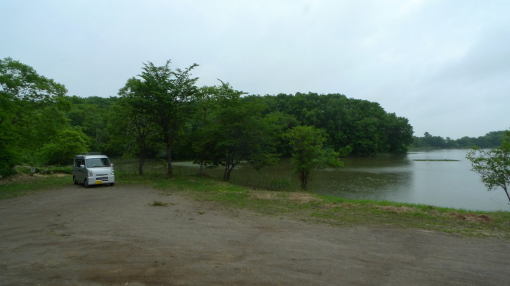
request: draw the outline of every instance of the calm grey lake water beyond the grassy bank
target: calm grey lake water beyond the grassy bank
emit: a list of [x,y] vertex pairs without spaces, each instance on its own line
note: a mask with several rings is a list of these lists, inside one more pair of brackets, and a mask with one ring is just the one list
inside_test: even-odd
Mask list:
[[[467,210],[510,211],[502,188],[484,187],[465,159],[467,149],[411,152],[400,157],[343,158],[344,167],[314,170],[309,191],[349,199],[422,203]],[[415,159],[453,159],[458,162],[421,162]],[[223,170],[208,170],[221,176]],[[249,165],[232,171],[236,184],[256,186],[287,179],[298,186],[289,159],[256,173]],[[266,183],[265,183],[266,182]],[[263,187],[263,186],[262,186]]]

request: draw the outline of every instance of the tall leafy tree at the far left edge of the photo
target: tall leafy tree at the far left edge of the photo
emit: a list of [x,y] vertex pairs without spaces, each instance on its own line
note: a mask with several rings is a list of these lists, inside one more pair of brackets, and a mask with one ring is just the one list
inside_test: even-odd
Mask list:
[[41,117],[49,107],[68,108],[66,92],[63,85],[37,74],[29,65],[12,58],[0,61],[0,175],[12,173],[12,166],[20,162],[22,155],[33,157],[41,147],[43,142],[34,131],[63,115]]

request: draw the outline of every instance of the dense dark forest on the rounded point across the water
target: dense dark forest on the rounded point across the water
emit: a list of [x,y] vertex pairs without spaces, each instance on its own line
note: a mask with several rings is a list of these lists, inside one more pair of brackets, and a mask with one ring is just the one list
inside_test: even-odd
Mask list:
[[[257,97],[249,96],[245,100]],[[413,128],[407,118],[387,113],[377,102],[342,94],[314,93],[278,94],[261,99],[269,107],[267,112],[279,111],[292,115],[298,125],[323,129],[329,135],[326,146],[335,150],[351,146],[352,155],[403,154],[412,142]]]

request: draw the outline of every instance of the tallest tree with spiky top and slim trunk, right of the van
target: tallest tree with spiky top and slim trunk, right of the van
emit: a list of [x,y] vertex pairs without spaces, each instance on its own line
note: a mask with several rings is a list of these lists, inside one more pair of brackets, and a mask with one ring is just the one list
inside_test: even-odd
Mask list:
[[159,125],[162,143],[165,146],[168,176],[173,175],[172,146],[179,131],[191,113],[191,102],[195,100],[198,78],[191,71],[198,65],[186,69],[170,69],[170,61],[157,67],[151,62],[144,63],[140,78],[130,78],[119,95],[131,98],[135,109],[145,113]]

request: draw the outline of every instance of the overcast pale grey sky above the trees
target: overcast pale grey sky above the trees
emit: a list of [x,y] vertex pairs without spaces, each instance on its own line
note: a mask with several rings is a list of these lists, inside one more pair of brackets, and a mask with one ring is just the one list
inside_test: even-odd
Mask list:
[[171,59],[200,86],[379,102],[417,136],[510,128],[507,0],[0,0],[6,57],[70,96],[116,96]]

